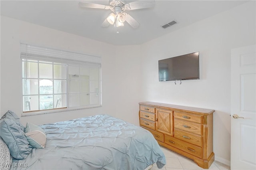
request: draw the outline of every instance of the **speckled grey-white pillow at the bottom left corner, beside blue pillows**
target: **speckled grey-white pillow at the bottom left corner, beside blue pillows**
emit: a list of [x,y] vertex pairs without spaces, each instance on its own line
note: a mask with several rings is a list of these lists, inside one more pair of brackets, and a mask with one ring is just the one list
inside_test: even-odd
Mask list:
[[12,163],[12,156],[10,155],[10,151],[8,146],[4,142],[2,138],[0,138],[0,165],[1,170],[9,170],[10,164]]

